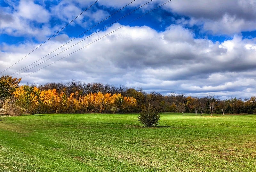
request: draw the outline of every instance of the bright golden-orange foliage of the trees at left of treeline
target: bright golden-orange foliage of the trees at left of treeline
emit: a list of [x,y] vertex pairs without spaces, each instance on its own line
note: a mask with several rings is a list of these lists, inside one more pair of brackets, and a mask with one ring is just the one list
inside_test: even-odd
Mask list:
[[121,94],[98,92],[79,96],[75,92],[67,96],[56,89],[40,91],[28,85],[20,86],[13,95],[24,113],[126,113],[137,105],[135,98]]

